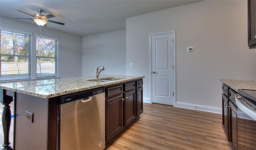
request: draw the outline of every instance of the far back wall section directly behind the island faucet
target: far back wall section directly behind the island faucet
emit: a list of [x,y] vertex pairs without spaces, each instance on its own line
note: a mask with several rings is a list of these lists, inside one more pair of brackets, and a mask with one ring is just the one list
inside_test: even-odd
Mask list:
[[104,66],[100,74],[126,75],[126,31],[112,31],[82,38],[82,76],[95,76],[95,68]]

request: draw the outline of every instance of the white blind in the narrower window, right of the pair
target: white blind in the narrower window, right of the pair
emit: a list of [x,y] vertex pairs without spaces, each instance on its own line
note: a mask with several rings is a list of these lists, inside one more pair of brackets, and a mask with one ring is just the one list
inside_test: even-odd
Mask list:
[[36,37],[36,78],[58,76],[58,40]]

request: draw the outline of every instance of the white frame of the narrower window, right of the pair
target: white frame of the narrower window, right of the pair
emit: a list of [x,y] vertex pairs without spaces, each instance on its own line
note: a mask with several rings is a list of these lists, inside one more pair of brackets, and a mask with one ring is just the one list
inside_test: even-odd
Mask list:
[[[55,38],[55,37],[49,37],[49,36],[46,36],[46,35],[38,35],[38,34],[35,34],[35,39],[37,37],[44,37],[44,38],[47,38],[47,39],[53,39],[55,40],[55,52],[54,52],[54,56],[55,57],[47,57],[47,56],[36,56],[36,59],[37,58],[54,58],[54,61],[55,61],[55,74],[54,76],[37,76],[37,72],[35,72],[35,77],[36,79],[42,79],[42,78],[56,78],[58,77],[58,42],[59,42],[59,39],[58,38]],[[35,40],[35,47],[36,47],[36,40]],[[37,68],[37,62],[35,64],[35,67]]]

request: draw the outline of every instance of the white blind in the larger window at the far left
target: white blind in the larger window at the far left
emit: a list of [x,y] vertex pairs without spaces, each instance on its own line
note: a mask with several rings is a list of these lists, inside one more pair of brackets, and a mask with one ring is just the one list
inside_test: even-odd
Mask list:
[[31,35],[0,30],[0,82],[31,79]]

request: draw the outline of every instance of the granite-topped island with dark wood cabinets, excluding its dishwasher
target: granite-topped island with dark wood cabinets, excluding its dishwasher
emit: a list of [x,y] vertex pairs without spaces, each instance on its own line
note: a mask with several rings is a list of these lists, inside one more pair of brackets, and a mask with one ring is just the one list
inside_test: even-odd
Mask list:
[[[106,143],[108,144],[138,120],[143,112],[143,78],[144,76],[102,75],[99,79],[77,77],[0,84],[0,98],[4,105],[3,146],[5,149],[12,149],[8,140],[11,119],[10,103],[14,103],[14,148],[56,150],[58,148],[60,97],[97,88],[104,88],[106,92]],[[114,108],[113,106],[120,107],[118,109],[120,118],[109,117],[114,116],[111,113],[116,112],[116,109],[110,110]],[[26,114],[26,111],[33,115]],[[32,117],[32,120],[26,118],[32,123],[26,121],[25,117]]]

